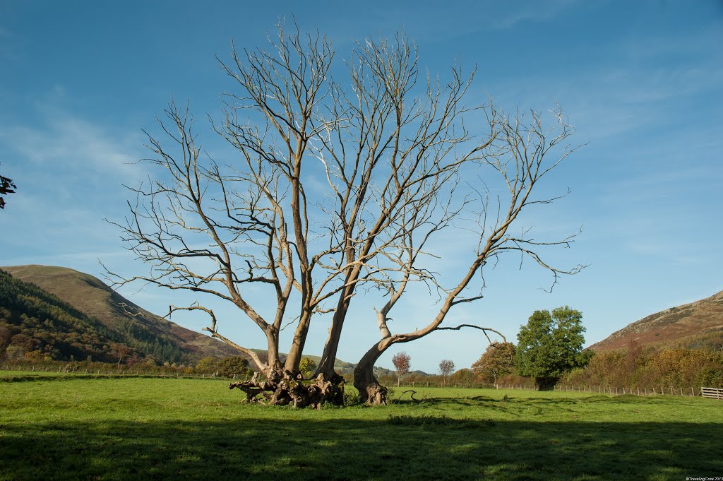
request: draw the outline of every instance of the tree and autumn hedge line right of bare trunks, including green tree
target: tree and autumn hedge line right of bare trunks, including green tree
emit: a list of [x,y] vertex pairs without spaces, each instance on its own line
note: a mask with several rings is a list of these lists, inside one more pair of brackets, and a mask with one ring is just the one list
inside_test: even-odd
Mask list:
[[[518,344],[492,342],[471,369],[451,373],[450,359],[440,362],[440,375],[408,374],[410,358],[395,366],[405,383],[430,386],[483,387],[526,385],[551,389],[573,386],[723,388],[723,343],[703,336],[691,346],[643,348],[633,342],[611,352],[583,350],[582,313],[570,307],[537,310],[518,333]],[[450,365],[452,367],[450,367]],[[400,367],[403,369],[400,371]],[[386,375],[390,383],[392,376]],[[381,377],[380,377],[381,379]],[[399,376],[397,380],[399,379]]]

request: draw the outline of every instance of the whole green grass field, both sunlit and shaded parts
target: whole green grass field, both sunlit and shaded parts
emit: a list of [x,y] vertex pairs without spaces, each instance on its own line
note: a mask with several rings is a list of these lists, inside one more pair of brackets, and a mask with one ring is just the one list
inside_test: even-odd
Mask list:
[[0,480],[723,475],[721,401],[416,391],[424,401],[316,411],[240,404],[220,380],[0,373]]

